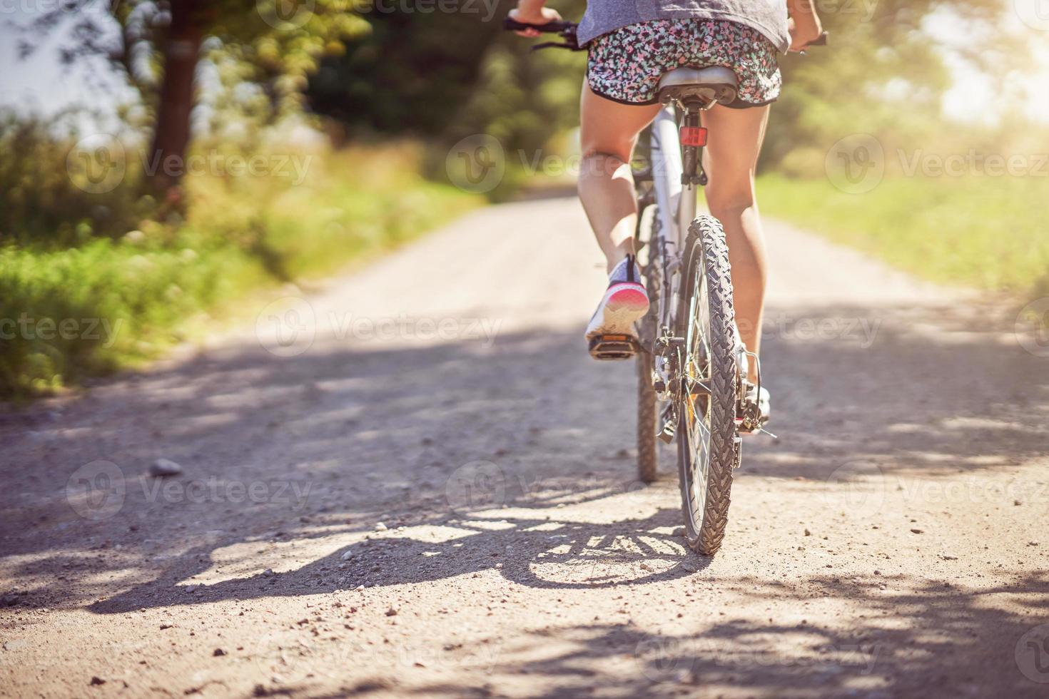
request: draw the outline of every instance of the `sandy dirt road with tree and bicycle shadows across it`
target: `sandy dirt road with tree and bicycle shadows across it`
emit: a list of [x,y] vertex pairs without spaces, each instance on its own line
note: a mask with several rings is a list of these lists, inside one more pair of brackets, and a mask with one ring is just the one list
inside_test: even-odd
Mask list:
[[633,365],[583,349],[578,204],[491,207],[3,415],[0,694],[1049,695],[1049,359],[1014,311],[769,237],[780,438],[713,560],[671,455],[634,480]]

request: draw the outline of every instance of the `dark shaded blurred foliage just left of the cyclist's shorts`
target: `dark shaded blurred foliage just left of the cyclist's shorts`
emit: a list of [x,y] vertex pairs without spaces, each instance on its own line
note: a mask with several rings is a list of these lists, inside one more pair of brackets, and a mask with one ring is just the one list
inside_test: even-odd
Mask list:
[[[554,4],[568,19],[582,16],[583,2]],[[446,147],[488,133],[511,153],[578,125],[585,54],[530,51],[536,41],[501,29],[513,3],[491,16],[484,3],[470,6],[477,13],[367,13],[371,30],[311,80],[312,109],[351,135],[408,133]]]

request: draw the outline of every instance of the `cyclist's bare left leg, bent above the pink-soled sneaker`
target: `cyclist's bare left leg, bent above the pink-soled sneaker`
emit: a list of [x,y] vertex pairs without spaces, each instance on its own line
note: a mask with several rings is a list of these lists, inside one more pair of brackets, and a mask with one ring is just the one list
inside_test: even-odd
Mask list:
[[609,272],[634,252],[638,207],[630,156],[638,133],[658,112],[659,105],[621,105],[594,94],[583,84],[579,199]]

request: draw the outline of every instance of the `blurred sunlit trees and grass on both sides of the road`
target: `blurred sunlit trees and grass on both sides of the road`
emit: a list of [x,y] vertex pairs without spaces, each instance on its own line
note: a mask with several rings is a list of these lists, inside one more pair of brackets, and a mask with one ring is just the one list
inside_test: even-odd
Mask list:
[[[782,59],[763,211],[1018,308],[1049,293],[1049,3],[816,4],[831,45]],[[0,3],[0,398],[571,184],[585,57],[530,52],[511,7]]]

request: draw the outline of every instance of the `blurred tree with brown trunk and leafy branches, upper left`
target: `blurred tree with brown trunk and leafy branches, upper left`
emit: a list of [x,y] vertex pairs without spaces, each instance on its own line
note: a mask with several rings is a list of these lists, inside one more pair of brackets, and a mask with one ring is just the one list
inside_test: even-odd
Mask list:
[[[243,80],[270,96],[277,114],[298,103],[322,56],[368,30],[345,0],[112,0],[104,13],[90,12],[94,4],[64,0],[26,28],[48,30],[72,15],[73,43],[62,60],[104,56],[124,71],[152,116],[146,187],[160,195],[184,171],[202,60],[235,54],[249,68]],[[20,52],[31,50],[23,40]]]

